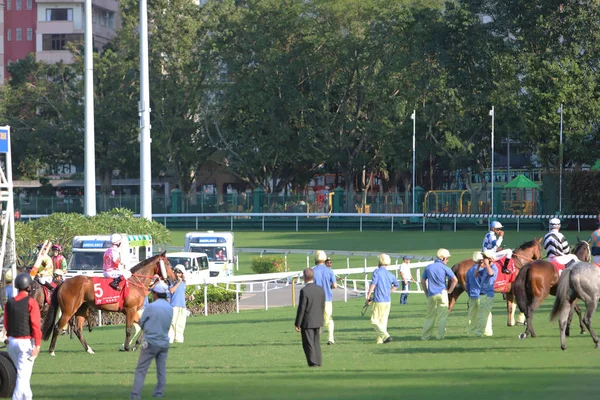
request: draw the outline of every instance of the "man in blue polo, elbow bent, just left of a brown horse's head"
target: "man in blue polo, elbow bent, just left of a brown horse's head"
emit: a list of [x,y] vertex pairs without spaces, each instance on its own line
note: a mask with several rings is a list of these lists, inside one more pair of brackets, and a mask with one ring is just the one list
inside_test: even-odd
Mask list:
[[[437,259],[433,264],[425,267],[421,277],[421,287],[425,290],[425,297],[427,297],[427,315],[425,316],[423,335],[421,336],[423,340],[431,339],[436,325],[438,329],[436,339],[443,339],[446,333],[448,292],[452,292],[458,283],[454,272],[446,266],[449,259],[450,252],[446,249],[439,249]],[[446,278],[449,281],[447,291]]]

